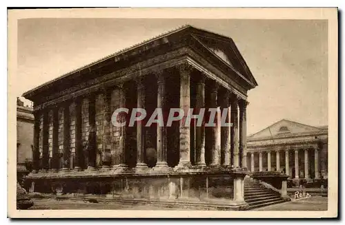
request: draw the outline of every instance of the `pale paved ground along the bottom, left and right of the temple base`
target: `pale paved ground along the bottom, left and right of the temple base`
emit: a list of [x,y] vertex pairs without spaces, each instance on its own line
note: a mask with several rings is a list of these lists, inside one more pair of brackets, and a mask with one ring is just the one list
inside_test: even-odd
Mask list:
[[[74,200],[32,199],[34,206],[30,209],[133,209],[133,210],[188,210],[187,208],[171,208],[168,206],[154,206],[145,204],[121,204],[116,202],[90,203]],[[284,202],[255,211],[324,211],[327,210],[327,197],[313,196],[305,200]]]

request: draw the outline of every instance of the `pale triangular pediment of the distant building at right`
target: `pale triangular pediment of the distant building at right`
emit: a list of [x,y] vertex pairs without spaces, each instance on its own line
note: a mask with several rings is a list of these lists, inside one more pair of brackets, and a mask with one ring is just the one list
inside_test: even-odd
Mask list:
[[307,133],[321,131],[318,127],[304,125],[299,122],[293,122],[290,120],[280,120],[273,125],[262,129],[261,131],[254,133],[249,138],[270,138],[275,136],[284,136],[294,133]]

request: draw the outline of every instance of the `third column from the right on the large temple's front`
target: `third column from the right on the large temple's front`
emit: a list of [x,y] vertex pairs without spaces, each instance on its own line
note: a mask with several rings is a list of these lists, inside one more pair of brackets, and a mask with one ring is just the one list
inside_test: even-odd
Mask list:
[[[221,95],[221,118],[225,118],[224,122],[229,122],[229,92],[224,90]],[[226,110],[224,110],[226,109]],[[230,165],[230,126],[221,127],[221,139],[220,139],[220,153],[221,153],[221,164],[224,166]]]

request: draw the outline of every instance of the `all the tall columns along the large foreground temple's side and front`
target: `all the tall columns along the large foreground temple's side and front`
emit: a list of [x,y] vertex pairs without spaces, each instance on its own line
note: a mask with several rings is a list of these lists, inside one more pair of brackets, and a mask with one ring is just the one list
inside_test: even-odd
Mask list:
[[[190,76],[191,67],[189,65],[179,66],[180,73],[180,108],[184,109],[184,117],[181,120],[179,126],[180,133],[180,146],[179,146],[179,164],[178,167],[189,167],[190,166],[190,127],[185,126],[184,122],[187,119],[187,112],[190,109]],[[164,72],[159,71],[157,75],[157,107],[166,108],[166,78]],[[199,74],[196,85],[196,107],[195,113],[198,114],[201,108],[205,108],[205,76]],[[145,87],[143,77],[139,77],[136,80],[137,83],[137,107],[145,108]],[[220,90],[219,85],[215,81],[211,82],[210,89],[210,100],[209,108],[217,108],[217,96],[218,90]],[[126,93],[124,92],[124,85],[118,85],[119,89],[119,107],[126,107]],[[230,122],[233,123],[231,127],[221,127],[221,144],[220,149],[218,149],[216,140],[219,136],[216,127],[212,127],[211,132],[211,145],[210,152],[212,154],[210,163],[211,165],[224,165],[228,166],[233,164],[235,167],[246,167],[246,100],[239,99],[234,94],[230,94],[228,90],[221,89],[221,111],[231,107],[230,111]],[[112,113],[110,112],[110,94],[106,91],[104,94],[104,116],[105,116],[105,126],[108,127],[106,132],[103,133],[103,146],[110,146],[110,120]],[[88,169],[93,169],[96,167],[96,119],[95,119],[95,95],[90,94],[87,96],[89,100],[88,107],[88,121],[90,125],[90,133],[88,138]],[[81,103],[82,97],[75,98],[75,169],[81,169],[83,164],[83,144],[81,141],[81,123],[82,123],[82,112]],[[59,155],[59,122],[58,122],[58,110],[59,107],[63,107],[63,168],[62,170],[67,170],[70,168],[70,112],[69,105],[72,101],[68,100],[58,107],[43,109],[41,111],[34,111],[34,148],[33,148],[33,166],[34,171],[39,169],[48,170],[49,169],[49,144],[48,144],[48,112],[53,111],[53,125],[52,125],[52,169],[57,170],[59,168],[58,155]],[[43,114],[43,154],[42,154],[42,168],[39,168],[39,117]],[[226,115],[226,122],[228,122],[228,115]],[[239,121],[238,121],[239,114]],[[126,115],[119,115],[121,121],[126,120]],[[146,168],[145,160],[145,145],[144,145],[144,132],[143,124],[137,122],[137,168]],[[126,156],[126,126],[120,128],[120,138],[119,138],[119,149],[111,149],[111,151],[118,151],[119,163],[112,166],[116,167],[127,167],[125,162]],[[230,136],[229,136],[230,133]],[[230,138],[230,140],[229,140]],[[220,152],[219,152],[220,151]],[[195,153],[196,162],[195,164],[204,167],[205,162],[205,124],[204,122],[200,127],[195,128]],[[103,166],[107,167],[107,166]],[[157,164],[156,167],[168,167],[167,164],[167,131],[166,126],[157,126]]]

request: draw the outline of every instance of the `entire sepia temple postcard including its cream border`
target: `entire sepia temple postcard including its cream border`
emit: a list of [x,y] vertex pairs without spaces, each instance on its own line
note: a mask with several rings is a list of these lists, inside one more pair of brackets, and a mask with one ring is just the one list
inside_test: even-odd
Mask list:
[[337,8],[8,10],[8,29],[10,217],[337,217]]

